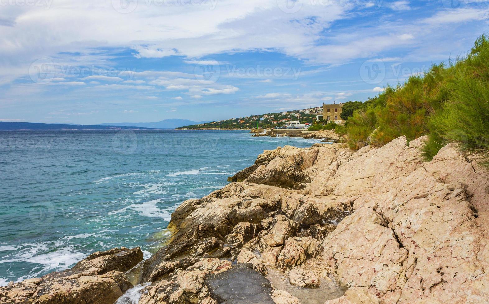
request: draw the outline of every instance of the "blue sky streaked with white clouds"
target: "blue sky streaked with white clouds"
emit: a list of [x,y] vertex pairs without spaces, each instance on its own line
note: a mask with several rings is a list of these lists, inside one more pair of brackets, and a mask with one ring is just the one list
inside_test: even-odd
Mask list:
[[488,31],[489,0],[0,0],[0,121],[212,121],[365,101]]

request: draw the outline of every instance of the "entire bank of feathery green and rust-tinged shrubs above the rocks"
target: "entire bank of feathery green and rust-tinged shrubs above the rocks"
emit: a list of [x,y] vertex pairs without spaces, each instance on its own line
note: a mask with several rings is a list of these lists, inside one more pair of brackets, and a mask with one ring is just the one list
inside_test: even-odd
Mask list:
[[488,37],[479,37],[465,58],[435,64],[423,75],[387,86],[356,109],[345,128],[355,149],[367,142],[382,146],[402,135],[408,141],[428,135],[426,160],[456,142],[489,166]]

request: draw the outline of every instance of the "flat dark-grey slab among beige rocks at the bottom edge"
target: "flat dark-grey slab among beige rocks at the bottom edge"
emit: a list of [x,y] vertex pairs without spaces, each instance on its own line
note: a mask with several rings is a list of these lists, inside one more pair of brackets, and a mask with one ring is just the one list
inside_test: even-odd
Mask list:
[[274,304],[273,288],[268,280],[253,269],[253,264],[236,264],[233,268],[209,274],[205,278],[211,297],[225,304]]

